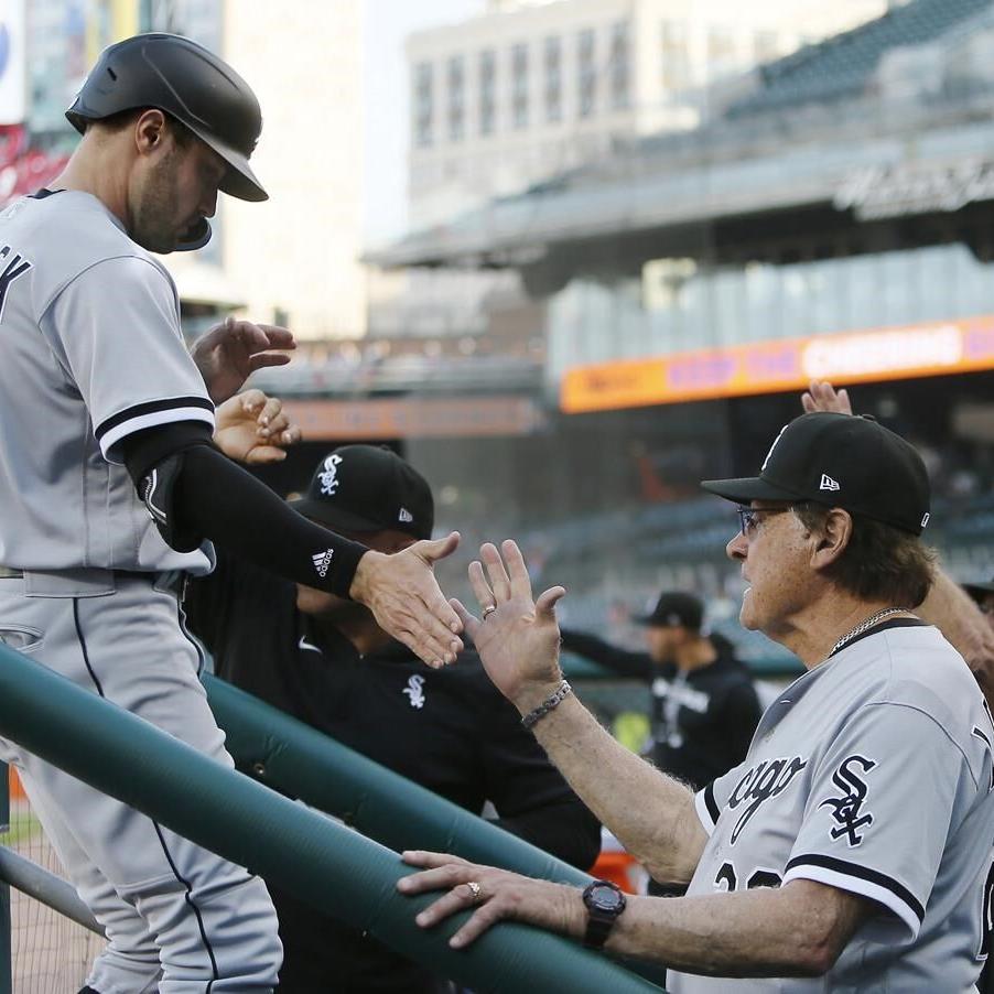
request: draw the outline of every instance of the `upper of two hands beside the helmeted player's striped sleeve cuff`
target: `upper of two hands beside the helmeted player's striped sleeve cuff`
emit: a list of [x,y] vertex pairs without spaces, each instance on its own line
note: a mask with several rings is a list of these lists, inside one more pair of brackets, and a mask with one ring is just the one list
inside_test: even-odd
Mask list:
[[257,369],[290,361],[290,356],[268,349],[292,348],[296,348],[296,342],[287,328],[228,317],[197,338],[190,354],[210,399],[222,403],[240,390]]

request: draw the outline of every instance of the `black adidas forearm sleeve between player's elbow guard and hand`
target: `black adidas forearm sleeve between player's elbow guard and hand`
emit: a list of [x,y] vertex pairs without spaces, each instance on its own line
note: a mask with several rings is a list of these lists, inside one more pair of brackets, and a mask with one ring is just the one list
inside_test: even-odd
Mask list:
[[183,452],[173,511],[184,528],[255,565],[339,597],[367,551],[301,517],[213,445]]

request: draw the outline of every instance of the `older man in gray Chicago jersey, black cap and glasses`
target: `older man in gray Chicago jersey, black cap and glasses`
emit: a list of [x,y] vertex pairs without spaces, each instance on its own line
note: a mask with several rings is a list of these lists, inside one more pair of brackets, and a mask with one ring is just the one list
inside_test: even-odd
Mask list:
[[583,893],[406,853],[404,893],[446,888],[418,921],[476,907],[463,946],[516,918],[671,968],[673,994],[973,991],[987,957],[994,723],[969,668],[914,614],[933,573],[929,484],[875,421],[808,413],[760,474],[704,486],[738,503],[728,543],[750,586],[742,623],[808,672],[764,715],[745,761],[696,795],[627,754],[558,668],[554,587],[532,602],[520,552],[471,568],[463,611],[494,682],[568,780],[685,897]]

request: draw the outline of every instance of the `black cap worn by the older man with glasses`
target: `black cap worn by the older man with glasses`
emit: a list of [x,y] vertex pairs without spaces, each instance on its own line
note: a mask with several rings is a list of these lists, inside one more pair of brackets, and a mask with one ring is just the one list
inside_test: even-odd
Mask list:
[[872,418],[815,411],[786,424],[758,476],[705,479],[726,500],[811,500],[921,534],[928,471],[915,447]]

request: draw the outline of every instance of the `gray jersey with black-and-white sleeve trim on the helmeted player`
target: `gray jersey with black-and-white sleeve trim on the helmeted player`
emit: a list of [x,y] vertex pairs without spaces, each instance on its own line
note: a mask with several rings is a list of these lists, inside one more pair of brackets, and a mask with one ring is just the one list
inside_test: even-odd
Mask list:
[[209,569],[162,541],[120,465],[131,432],[213,428],[176,288],[94,196],[0,214],[0,564]]

